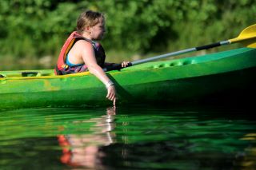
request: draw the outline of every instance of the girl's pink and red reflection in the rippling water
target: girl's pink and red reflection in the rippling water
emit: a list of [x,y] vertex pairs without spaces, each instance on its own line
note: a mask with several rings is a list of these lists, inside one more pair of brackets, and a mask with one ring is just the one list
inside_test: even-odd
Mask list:
[[[61,162],[74,167],[96,168],[102,166],[101,158],[105,155],[99,150],[99,147],[114,142],[115,134],[111,131],[115,128],[115,114],[115,108],[110,107],[106,109],[106,115],[102,117],[73,122],[76,126],[96,122],[91,126],[91,132],[88,134],[58,135],[58,142],[62,147]],[[62,129],[62,131],[65,130]]]

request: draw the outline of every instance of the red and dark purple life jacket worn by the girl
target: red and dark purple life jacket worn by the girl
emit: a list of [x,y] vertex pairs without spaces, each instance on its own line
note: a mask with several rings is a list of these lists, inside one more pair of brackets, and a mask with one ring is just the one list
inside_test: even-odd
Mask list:
[[[86,42],[90,42],[94,46],[94,53],[95,53],[97,64],[103,68],[106,55],[102,45],[100,45],[98,42],[92,42],[89,39],[79,35],[77,31],[74,31],[72,34],[70,34],[70,37],[66,39],[66,42],[62,46],[61,52],[58,55],[58,62],[54,70],[54,73],[56,75],[77,73],[77,72],[82,72],[86,70],[86,69],[78,69],[78,71],[74,71],[76,69],[75,68],[76,66],[71,67],[70,65],[66,65],[66,56],[69,53],[72,46],[74,45],[74,43],[78,42],[78,40],[86,40]],[[86,65],[82,65],[82,66],[86,68]]]

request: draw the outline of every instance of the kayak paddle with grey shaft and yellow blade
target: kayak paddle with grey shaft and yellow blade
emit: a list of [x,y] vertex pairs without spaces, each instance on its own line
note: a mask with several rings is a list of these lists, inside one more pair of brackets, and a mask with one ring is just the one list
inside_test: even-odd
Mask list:
[[[166,54],[162,54],[162,55],[158,55],[155,57],[150,57],[150,58],[146,58],[146,59],[142,59],[142,60],[138,60],[138,61],[132,61],[129,63],[128,66],[132,66],[132,65],[139,65],[148,61],[154,61],[154,60],[158,60],[160,58],[164,58],[164,57],[170,57],[170,56],[176,56],[176,55],[180,55],[180,54],[184,54],[184,53],[190,53],[190,52],[194,52],[194,51],[199,51],[202,49],[210,49],[210,48],[214,48],[217,46],[221,46],[221,45],[230,45],[236,42],[242,42],[245,46],[247,47],[252,47],[252,48],[256,48],[256,24],[252,25],[252,26],[248,26],[246,29],[242,30],[242,32],[238,35],[237,38],[232,38],[226,41],[222,41],[222,42],[215,42],[213,44],[209,44],[209,45],[202,45],[202,46],[198,46],[198,47],[194,47],[194,48],[190,48],[190,49],[183,49],[183,50],[179,50],[176,52],[172,52],[172,53],[166,53]],[[114,69],[123,69],[121,64],[114,64],[111,68],[105,68],[104,71],[110,71],[110,70],[114,70]]]

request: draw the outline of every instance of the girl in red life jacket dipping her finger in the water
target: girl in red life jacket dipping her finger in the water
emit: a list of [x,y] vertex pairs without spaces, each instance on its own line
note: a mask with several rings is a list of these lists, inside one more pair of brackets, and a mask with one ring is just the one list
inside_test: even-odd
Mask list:
[[[116,101],[114,83],[106,76],[102,68],[111,65],[105,62],[105,52],[98,41],[105,34],[105,18],[102,13],[88,10],[80,14],[77,21],[77,31],[70,34],[62,46],[58,57],[55,73],[58,75],[90,71],[106,85],[110,101]],[[113,63],[112,63],[113,64]],[[123,61],[126,67],[129,61]]]

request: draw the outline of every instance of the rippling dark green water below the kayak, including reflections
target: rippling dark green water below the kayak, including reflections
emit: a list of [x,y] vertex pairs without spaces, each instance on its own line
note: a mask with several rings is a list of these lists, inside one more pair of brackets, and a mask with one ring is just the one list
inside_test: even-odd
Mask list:
[[255,169],[246,108],[0,111],[0,169]]

